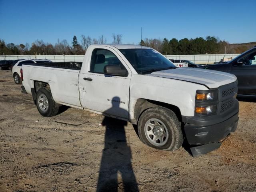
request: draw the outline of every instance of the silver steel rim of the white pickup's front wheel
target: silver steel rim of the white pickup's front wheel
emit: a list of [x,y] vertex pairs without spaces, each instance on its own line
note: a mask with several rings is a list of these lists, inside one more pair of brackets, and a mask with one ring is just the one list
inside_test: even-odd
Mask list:
[[145,135],[154,146],[163,146],[168,141],[169,133],[165,124],[157,119],[151,118],[145,124]]

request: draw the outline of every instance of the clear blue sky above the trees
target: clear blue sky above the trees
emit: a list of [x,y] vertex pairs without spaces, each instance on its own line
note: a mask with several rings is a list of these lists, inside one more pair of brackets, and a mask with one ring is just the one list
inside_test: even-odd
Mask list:
[[55,44],[73,35],[122,34],[122,43],[142,38],[217,36],[230,43],[256,41],[256,0],[0,0],[0,39],[14,44],[36,39]]

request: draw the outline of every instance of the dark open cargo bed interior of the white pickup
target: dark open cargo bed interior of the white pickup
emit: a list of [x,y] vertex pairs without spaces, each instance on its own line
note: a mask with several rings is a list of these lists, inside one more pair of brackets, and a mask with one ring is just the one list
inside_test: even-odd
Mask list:
[[47,62],[47,63],[26,64],[26,65],[80,70],[81,67],[82,67],[82,62],[75,62],[75,61],[71,61],[71,62],[70,61],[68,61],[68,62]]

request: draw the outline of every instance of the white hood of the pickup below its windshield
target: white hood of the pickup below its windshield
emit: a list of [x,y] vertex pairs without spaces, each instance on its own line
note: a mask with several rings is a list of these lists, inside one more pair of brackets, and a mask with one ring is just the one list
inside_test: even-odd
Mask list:
[[219,86],[236,81],[236,76],[233,74],[199,68],[182,67],[157,71],[147,75],[193,82],[196,84],[205,85],[207,88],[218,88]]

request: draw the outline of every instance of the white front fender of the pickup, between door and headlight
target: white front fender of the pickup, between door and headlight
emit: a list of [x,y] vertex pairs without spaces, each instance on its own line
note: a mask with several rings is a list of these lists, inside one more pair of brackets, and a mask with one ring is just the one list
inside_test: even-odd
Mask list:
[[130,82],[130,119],[135,118],[135,105],[144,98],[171,104],[182,116],[194,116],[196,90],[208,90],[203,85],[174,79],[133,75]]

